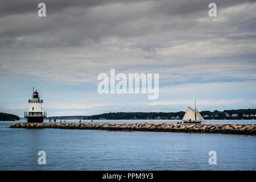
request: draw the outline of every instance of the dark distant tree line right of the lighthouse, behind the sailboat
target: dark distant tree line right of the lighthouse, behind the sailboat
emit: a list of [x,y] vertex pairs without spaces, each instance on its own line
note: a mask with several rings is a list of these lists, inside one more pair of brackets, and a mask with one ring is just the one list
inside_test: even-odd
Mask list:
[[[133,113],[104,113],[97,115],[76,115],[76,116],[62,116],[51,117],[52,119],[182,119],[184,111],[179,112],[133,112]],[[238,110],[224,110],[224,111],[201,111],[200,114],[204,119],[256,119],[256,109],[238,109]],[[232,116],[235,114],[236,116]],[[249,116],[248,116],[249,115]],[[254,115],[253,117],[251,115]]]

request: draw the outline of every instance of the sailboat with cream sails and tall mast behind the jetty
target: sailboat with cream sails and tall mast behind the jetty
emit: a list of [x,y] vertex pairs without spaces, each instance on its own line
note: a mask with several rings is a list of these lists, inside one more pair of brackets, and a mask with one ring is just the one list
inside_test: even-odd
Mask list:
[[183,123],[201,123],[204,121],[204,118],[196,109],[196,100],[195,100],[195,109],[188,107],[185,112],[184,117],[182,118]]

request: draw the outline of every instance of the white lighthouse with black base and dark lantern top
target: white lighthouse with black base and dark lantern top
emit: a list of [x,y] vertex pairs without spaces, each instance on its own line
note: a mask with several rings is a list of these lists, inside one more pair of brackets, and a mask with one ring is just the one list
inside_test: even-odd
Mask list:
[[34,92],[32,100],[28,100],[29,110],[25,111],[24,117],[27,118],[28,123],[41,123],[46,118],[46,111],[43,111],[43,100],[39,99],[39,93]]

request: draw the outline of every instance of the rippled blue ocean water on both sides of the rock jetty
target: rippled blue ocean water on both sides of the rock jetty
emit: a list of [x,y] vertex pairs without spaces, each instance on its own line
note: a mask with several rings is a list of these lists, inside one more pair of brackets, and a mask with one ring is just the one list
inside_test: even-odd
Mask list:
[[[252,135],[9,128],[13,123],[0,122],[0,170],[256,170]],[[39,151],[46,165],[38,164]],[[217,164],[209,164],[209,151]]]

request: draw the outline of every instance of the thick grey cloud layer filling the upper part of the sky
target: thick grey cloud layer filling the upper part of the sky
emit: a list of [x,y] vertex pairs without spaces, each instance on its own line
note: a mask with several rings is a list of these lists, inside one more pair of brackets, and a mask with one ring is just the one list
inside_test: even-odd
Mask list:
[[0,2],[3,76],[80,84],[116,68],[162,82],[255,79],[255,1],[215,1],[216,18],[210,1],[44,2],[46,18],[39,1]]

